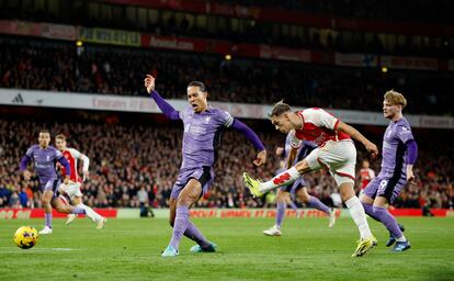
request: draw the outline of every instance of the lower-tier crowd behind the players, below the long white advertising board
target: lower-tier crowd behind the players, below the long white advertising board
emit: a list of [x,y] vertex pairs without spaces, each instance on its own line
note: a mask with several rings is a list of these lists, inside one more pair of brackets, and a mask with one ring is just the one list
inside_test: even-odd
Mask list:
[[[90,178],[82,184],[83,200],[97,207],[167,207],[181,164],[181,125],[166,126],[150,122],[135,124],[97,124],[90,122],[44,124],[32,121],[0,119],[0,206],[41,207],[41,190],[36,178],[24,181],[19,172],[21,157],[36,144],[38,128],[50,128],[53,136],[64,133],[68,144],[90,158]],[[256,151],[237,132],[227,130],[215,165],[215,182],[196,204],[203,207],[274,206],[274,196],[254,200],[242,184],[242,171],[270,179],[281,159],[273,151],[282,146],[279,133],[259,133],[268,147],[269,159],[254,167]],[[374,136],[379,144],[381,136]],[[245,144],[245,145],[237,145]],[[453,151],[431,151],[419,144],[415,171],[417,186],[408,186],[396,201],[397,207],[454,207]],[[440,143],[440,148],[443,145]],[[359,161],[367,156],[359,148]],[[379,160],[372,162],[377,172]],[[32,168],[32,167],[31,167]],[[357,169],[361,167],[357,165]],[[310,194],[331,206],[342,206],[332,177],[320,170],[305,176]],[[360,183],[357,182],[357,186]]]

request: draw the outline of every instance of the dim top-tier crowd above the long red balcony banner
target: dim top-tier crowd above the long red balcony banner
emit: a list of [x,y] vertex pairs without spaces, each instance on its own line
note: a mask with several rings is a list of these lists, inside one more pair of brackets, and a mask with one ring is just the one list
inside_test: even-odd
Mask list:
[[[452,36],[442,32],[431,35],[390,35],[373,32],[332,30],[316,26],[283,24],[285,19],[275,15],[275,22],[254,19],[205,15],[182,11],[155,10],[139,7],[99,3],[98,1],[61,1],[53,9],[33,4],[1,5],[0,18],[10,20],[64,23],[84,27],[107,27],[140,31],[162,36],[186,36],[228,40],[234,43],[256,43],[288,47],[304,47],[326,52],[365,53],[401,56],[430,56],[450,58],[454,55]],[[219,2],[219,1],[213,1]],[[373,0],[364,4],[360,0],[265,0],[220,1],[240,5],[265,5],[286,10],[306,11],[324,16],[379,19],[390,23],[433,23],[440,26],[453,24],[454,5],[449,0]],[[235,5],[237,7],[237,5]],[[252,12],[252,14],[257,11]],[[135,15],[134,15],[135,14]],[[141,16],[137,16],[140,14]],[[147,16],[148,15],[148,16]],[[282,18],[284,18],[283,15]],[[334,20],[332,20],[334,21]],[[372,35],[371,35],[372,34]]]

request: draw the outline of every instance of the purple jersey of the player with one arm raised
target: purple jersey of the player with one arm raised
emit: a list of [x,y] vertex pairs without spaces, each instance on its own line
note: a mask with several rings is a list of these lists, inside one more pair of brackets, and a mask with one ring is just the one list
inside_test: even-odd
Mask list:
[[188,108],[180,111],[179,116],[184,125],[181,170],[212,167],[220,133],[231,126],[234,117],[226,111],[211,106],[201,113]]

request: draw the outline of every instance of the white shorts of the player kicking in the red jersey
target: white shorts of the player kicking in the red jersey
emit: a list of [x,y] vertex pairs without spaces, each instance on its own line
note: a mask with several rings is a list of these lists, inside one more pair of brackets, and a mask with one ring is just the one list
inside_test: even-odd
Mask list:
[[327,142],[325,146],[314,149],[306,158],[310,170],[327,168],[338,186],[354,183],[356,148],[353,140]]

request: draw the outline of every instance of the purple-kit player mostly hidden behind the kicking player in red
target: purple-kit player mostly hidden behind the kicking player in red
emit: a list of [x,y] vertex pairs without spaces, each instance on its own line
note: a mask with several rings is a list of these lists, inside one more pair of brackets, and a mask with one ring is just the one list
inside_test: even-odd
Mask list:
[[[276,155],[280,156],[281,154],[286,155],[286,162],[287,168],[290,168],[292,165],[294,165],[296,161],[299,161],[304,159],[307,155],[310,154],[311,150],[317,148],[317,145],[310,142],[303,140],[302,146],[297,149],[296,156],[295,155],[288,155],[288,151],[291,151],[292,146],[292,134],[287,134],[287,137],[285,138],[285,148],[284,149],[276,149]],[[282,170],[281,170],[282,171]],[[279,172],[281,172],[279,171]],[[303,177],[297,179],[295,182],[283,186],[277,190],[277,196],[276,196],[276,218],[275,224],[270,227],[266,231],[263,231],[264,235],[268,236],[281,236],[281,227],[282,227],[282,221],[285,216],[285,209],[287,205],[287,202],[290,200],[290,195],[296,195],[296,198],[307,204],[308,206],[315,207],[321,212],[325,212],[329,217],[329,227],[333,227],[336,223],[336,212],[331,209],[329,209],[327,205],[325,205],[318,198],[309,195],[307,193],[306,188],[306,181]]]

